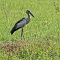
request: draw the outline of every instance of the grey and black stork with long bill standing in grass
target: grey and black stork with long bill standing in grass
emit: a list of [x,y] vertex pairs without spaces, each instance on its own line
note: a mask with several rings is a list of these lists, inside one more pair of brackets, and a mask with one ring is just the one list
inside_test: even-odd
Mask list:
[[27,10],[26,14],[28,15],[28,17],[24,17],[24,18],[20,19],[19,21],[17,21],[17,23],[14,25],[14,27],[10,31],[10,33],[12,35],[15,31],[17,31],[18,29],[21,28],[21,40],[22,40],[22,35],[23,35],[23,27],[30,22],[30,20],[31,20],[30,15],[32,17],[34,17],[34,15],[32,14],[32,12],[30,10]]

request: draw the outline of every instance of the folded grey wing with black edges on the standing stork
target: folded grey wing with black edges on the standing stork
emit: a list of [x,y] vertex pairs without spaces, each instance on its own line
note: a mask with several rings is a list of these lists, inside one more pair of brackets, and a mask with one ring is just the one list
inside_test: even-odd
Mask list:
[[25,18],[22,18],[21,20],[19,20],[15,25],[14,27],[12,28],[11,30],[11,34],[14,33],[14,31],[18,30],[19,28],[22,28],[26,25],[26,19]]

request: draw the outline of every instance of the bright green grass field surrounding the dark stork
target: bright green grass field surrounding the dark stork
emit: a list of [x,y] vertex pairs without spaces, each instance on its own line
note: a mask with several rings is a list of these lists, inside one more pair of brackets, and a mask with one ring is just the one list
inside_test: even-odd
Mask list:
[[0,0],[0,47],[7,42],[17,44],[15,41],[21,41],[21,29],[13,35],[10,31],[18,20],[27,17],[27,9],[35,16],[31,16],[30,23],[24,27],[25,41],[29,45],[18,50],[18,55],[11,53],[10,56],[5,49],[0,48],[0,60],[7,60],[8,56],[9,60],[59,60],[59,0]]

